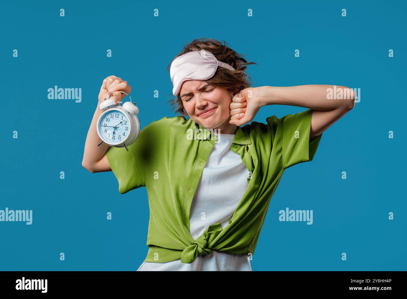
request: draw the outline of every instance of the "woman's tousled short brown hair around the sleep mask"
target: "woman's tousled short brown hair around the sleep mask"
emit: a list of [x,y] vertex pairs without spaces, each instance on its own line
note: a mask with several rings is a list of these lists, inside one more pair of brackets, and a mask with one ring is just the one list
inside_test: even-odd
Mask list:
[[[246,59],[243,58],[243,55],[235,52],[230,47],[228,47],[226,41],[223,41],[222,44],[222,42],[217,39],[194,39],[188,45],[184,46],[182,51],[177,56],[175,56],[174,59],[185,53],[200,50],[211,52],[217,60],[228,63],[235,69],[234,71],[232,71],[226,68],[217,68],[214,76],[212,76],[212,78],[208,80],[205,80],[206,83],[209,83],[216,87],[228,89],[232,96],[237,94],[240,90],[252,85],[252,79],[245,73],[245,69],[247,68],[247,65],[257,63],[247,62]],[[168,73],[170,72],[171,63],[168,65],[167,68]],[[170,96],[173,96],[173,94],[171,93]],[[173,98],[168,102],[171,103],[171,106],[174,106],[173,109],[177,108],[175,113],[181,113],[183,116],[188,116],[188,113],[186,113],[184,109],[184,104],[182,103],[180,93],[178,93],[177,98]]]

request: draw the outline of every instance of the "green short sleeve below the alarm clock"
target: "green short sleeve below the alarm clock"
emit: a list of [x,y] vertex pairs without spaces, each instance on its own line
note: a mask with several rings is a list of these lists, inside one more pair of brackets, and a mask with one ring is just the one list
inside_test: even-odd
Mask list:
[[[142,177],[142,155],[145,151],[143,148],[143,136],[145,135],[145,128],[143,128],[137,139],[125,147],[111,146],[106,152],[107,160],[109,161],[110,168],[119,183],[119,192],[124,194],[130,190],[145,186]],[[147,146],[147,144],[144,144]]]

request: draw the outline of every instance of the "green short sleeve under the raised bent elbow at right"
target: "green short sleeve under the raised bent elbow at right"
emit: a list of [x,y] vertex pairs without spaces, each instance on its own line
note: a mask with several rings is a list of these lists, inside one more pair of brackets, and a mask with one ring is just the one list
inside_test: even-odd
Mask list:
[[298,163],[312,161],[322,133],[309,141],[313,109],[294,115],[289,114],[278,120],[282,132],[282,162],[284,169]]

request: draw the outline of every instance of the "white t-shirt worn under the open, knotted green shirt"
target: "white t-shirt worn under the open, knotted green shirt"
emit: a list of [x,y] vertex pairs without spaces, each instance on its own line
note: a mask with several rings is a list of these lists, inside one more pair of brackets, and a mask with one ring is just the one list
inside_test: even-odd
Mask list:
[[[247,189],[247,170],[240,155],[230,150],[234,134],[216,134],[208,162],[202,172],[190,211],[190,233],[194,240],[209,225],[220,222],[222,229],[232,218]],[[212,251],[198,255],[191,264],[175,260],[143,262],[137,271],[252,271],[246,254]]]

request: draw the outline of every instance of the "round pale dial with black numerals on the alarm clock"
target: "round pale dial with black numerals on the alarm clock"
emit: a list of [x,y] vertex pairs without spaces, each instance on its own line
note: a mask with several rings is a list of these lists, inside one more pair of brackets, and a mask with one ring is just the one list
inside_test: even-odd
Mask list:
[[123,111],[110,110],[99,120],[98,130],[110,143],[123,142],[130,133],[130,121]]

